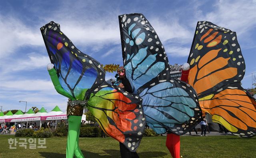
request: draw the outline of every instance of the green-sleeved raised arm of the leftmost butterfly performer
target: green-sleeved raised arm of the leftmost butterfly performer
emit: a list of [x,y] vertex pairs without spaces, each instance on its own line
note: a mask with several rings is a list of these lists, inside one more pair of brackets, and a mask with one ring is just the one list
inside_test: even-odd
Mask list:
[[68,98],[70,98],[71,100],[76,100],[74,97],[72,97],[70,94],[68,94],[68,92],[66,92],[66,91],[62,88],[62,86],[60,85],[60,81],[59,81],[58,76],[57,76],[57,71],[56,71],[54,68],[52,68],[51,70],[48,70],[48,72],[49,72],[50,77],[51,77],[51,79],[52,79],[52,83],[53,83],[53,85],[54,85],[55,90],[56,90],[59,94],[65,96],[65,97],[68,97]]

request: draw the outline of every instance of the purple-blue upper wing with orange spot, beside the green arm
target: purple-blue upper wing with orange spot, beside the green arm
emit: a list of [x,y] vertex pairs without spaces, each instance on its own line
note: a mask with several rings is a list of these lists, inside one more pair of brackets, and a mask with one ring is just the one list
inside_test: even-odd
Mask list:
[[62,88],[76,99],[86,99],[105,80],[100,63],[79,51],[58,23],[51,21],[40,31]]

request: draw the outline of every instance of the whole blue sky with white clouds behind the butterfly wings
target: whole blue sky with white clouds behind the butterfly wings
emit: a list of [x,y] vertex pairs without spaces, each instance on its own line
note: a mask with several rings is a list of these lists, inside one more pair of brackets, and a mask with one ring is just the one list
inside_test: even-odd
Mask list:
[[[74,45],[102,64],[122,65],[118,15],[142,13],[158,33],[170,64],[188,59],[197,21],[236,31],[246,63],[242,86],[252,85],[256,73],[256,0],[1,0],[0,105],[25,110],[58,105],[67,98],[54,90],[46,65],[50,63],[39,28],[50,21]],[[106,79],[114,74],[106,74]]]

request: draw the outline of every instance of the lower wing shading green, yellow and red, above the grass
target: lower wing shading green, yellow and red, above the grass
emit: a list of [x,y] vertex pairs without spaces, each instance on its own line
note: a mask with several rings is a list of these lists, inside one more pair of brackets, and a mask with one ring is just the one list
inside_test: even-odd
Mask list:
[[88,109],[105,133],[122,142],[130,151],[136,151],[146,121],[137,96],[103,82],[91,94]]

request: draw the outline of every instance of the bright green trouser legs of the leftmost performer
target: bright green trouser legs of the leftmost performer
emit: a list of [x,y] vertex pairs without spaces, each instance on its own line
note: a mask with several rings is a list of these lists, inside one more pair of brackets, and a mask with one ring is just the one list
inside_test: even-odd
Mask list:
[[66,148],[66,158],[84,158],[79,146],[79,133],[82,116],[68,116],[68,142]]

